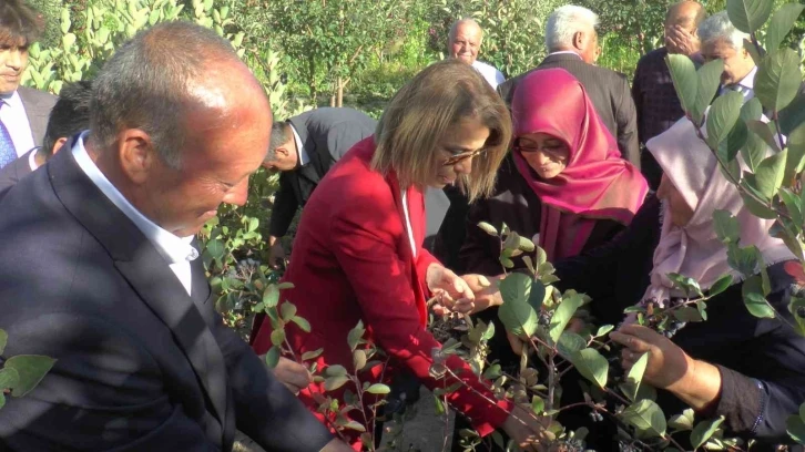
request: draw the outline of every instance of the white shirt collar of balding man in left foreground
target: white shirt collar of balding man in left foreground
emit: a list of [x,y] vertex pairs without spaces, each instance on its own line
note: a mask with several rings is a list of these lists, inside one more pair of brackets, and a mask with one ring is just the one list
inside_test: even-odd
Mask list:
[[137,229],[154,245],[156,250],[165,259],[171,270],[179,281],[182,282],[187,295],[191,292],[192,277],[190,271],[190,263],[198,257],[198,251],[191,245],[193,236],[177,237],[167,230],[157,226],[154,222],[146,218],[136,209],[129,201],[112,185],[106,176],[101,173],[95,163],[90,158],[90,154],[84,148],[84,140],[88,132],[83,132],[81,137],[75,142],[72,148],[75,163],[92,181],[98,188],[112,202],[125,216],[131,219]]

